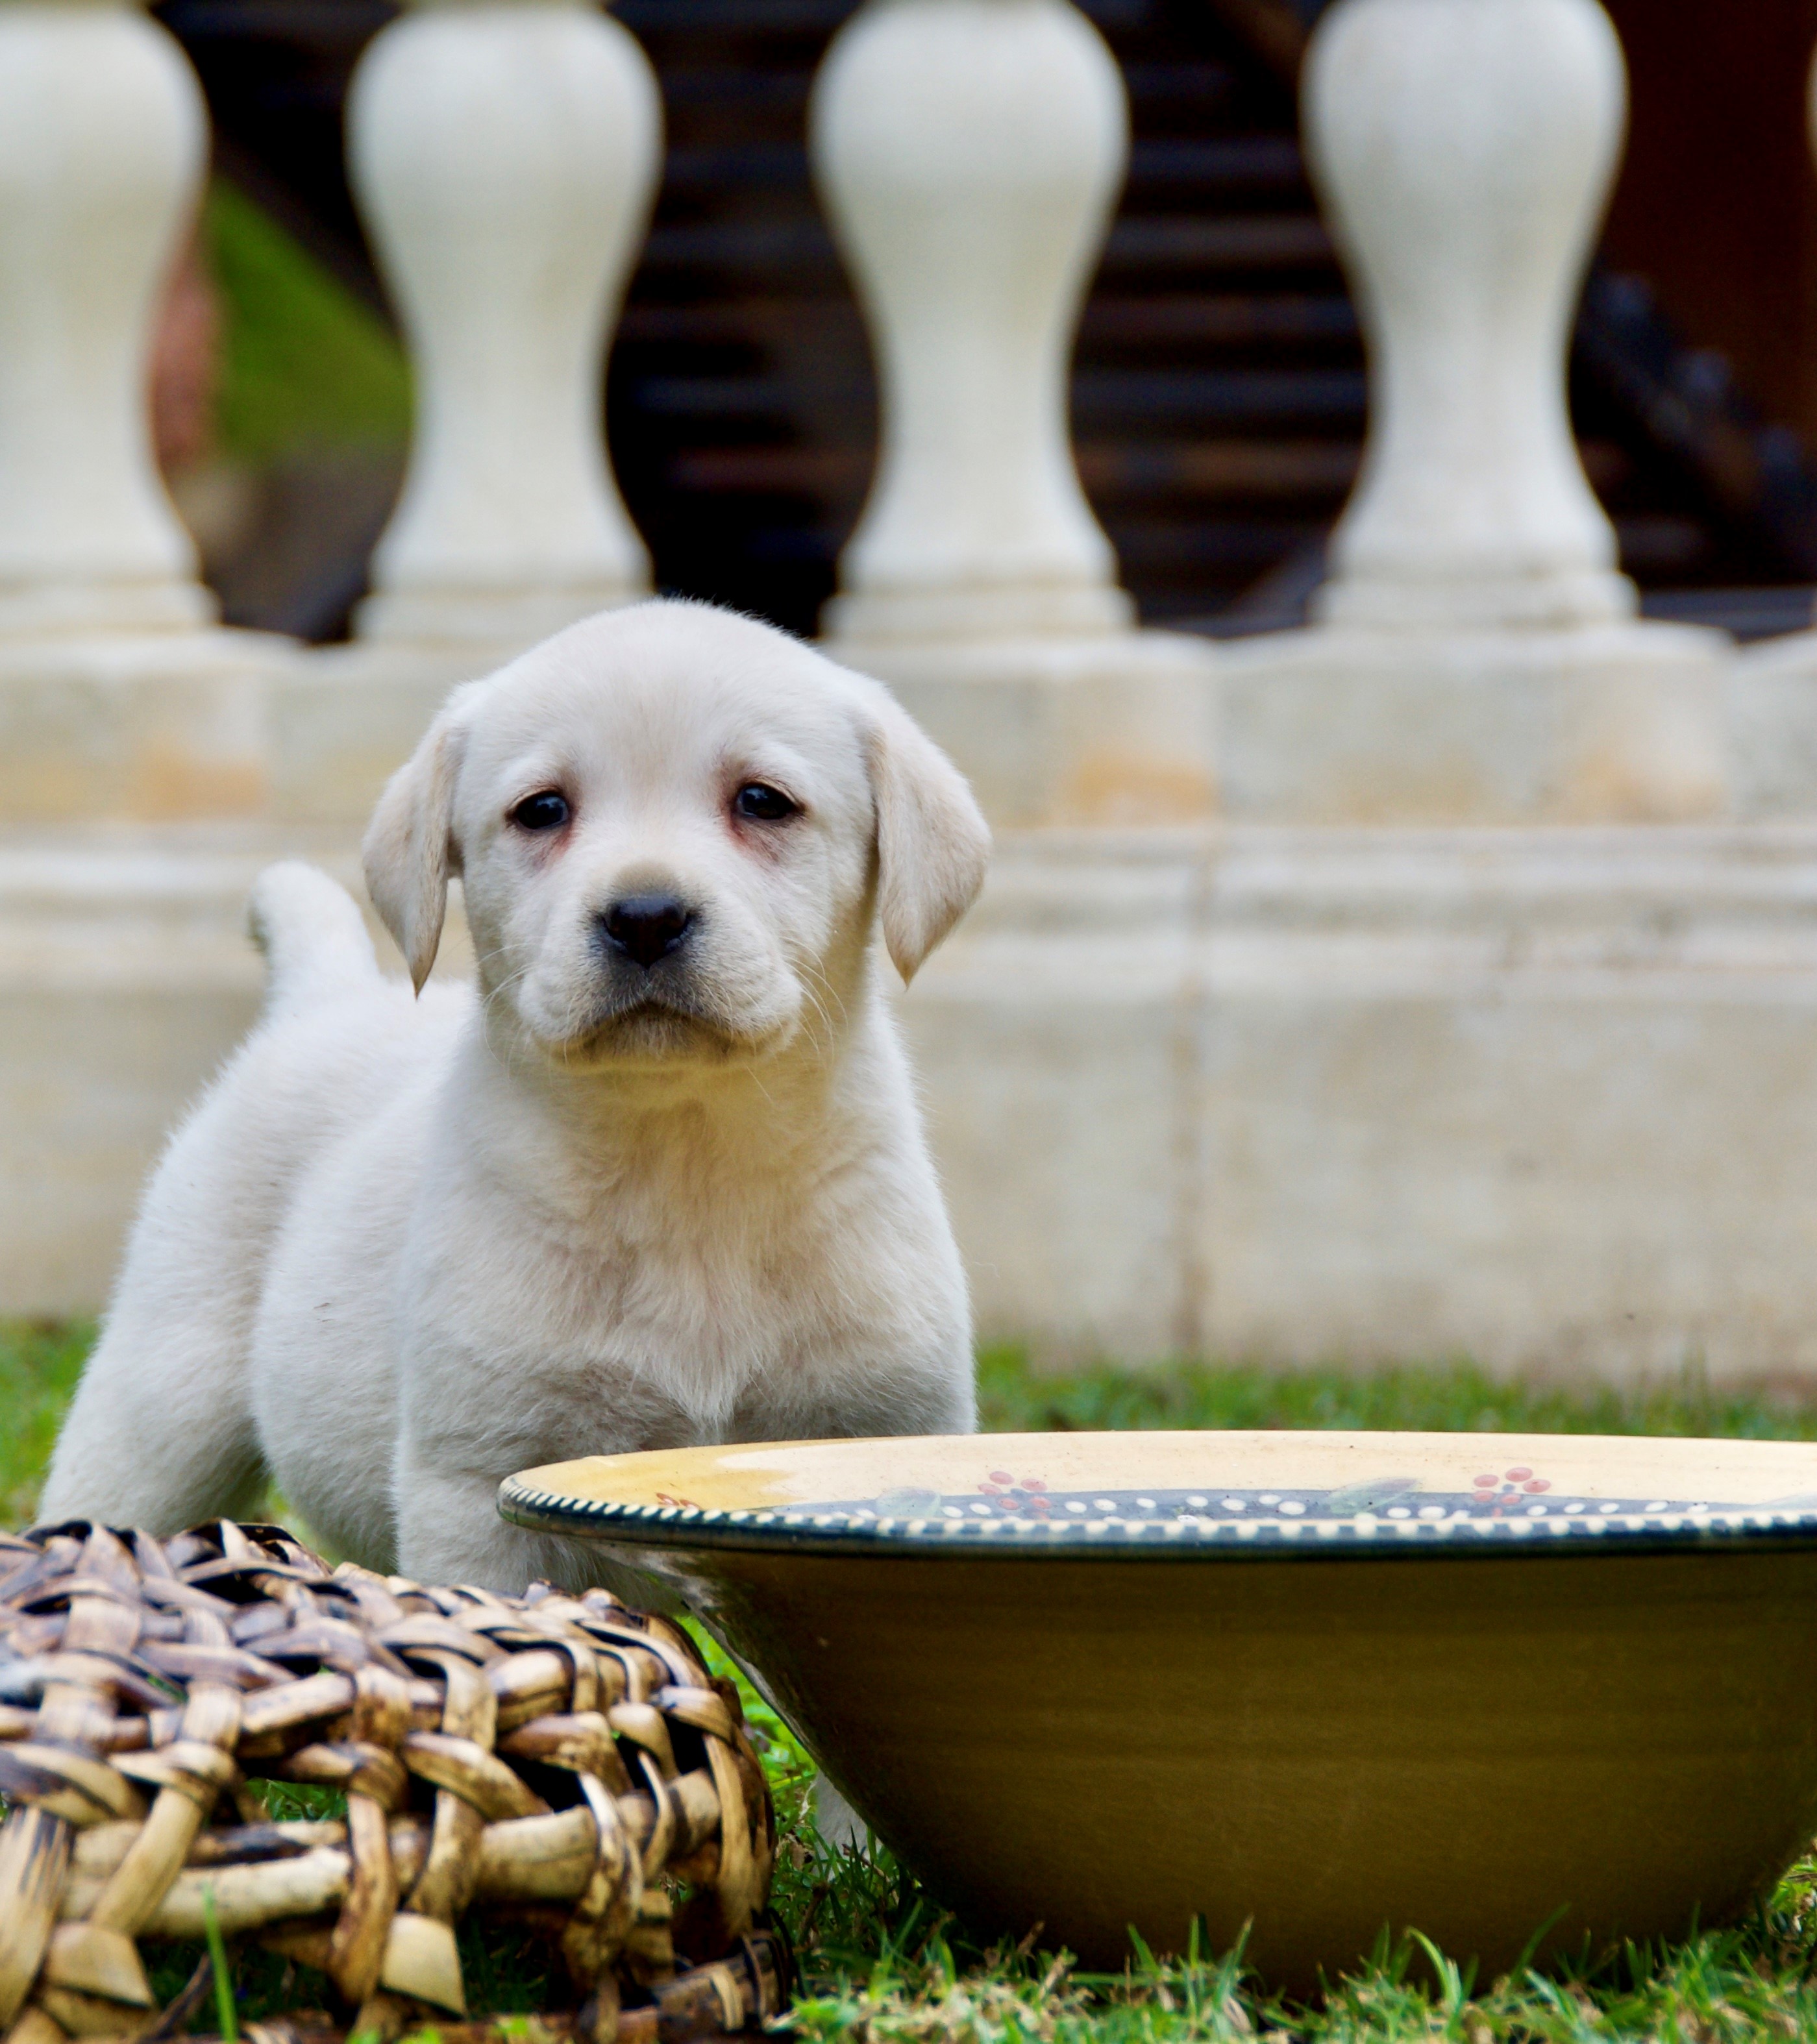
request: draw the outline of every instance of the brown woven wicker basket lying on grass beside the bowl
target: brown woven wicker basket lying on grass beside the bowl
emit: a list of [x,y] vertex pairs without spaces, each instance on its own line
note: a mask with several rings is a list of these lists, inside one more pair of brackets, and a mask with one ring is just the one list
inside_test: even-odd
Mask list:
[[[341,1788],[347,1815],[276,1823],[249,1778]],[[470,1913],[560,1952],[574,2007],[544,2024],[585,2044],[681,2044],[783,2003],[738,1694],[603,1590],[331,1574],[231,1521],[0,1533],[0,1797],[8,2044],[186,2030],[206,1962],[159,2011],[139,1946],[202,1938],[208,1913],[341,2001],[255,2044],[456,2034]]]

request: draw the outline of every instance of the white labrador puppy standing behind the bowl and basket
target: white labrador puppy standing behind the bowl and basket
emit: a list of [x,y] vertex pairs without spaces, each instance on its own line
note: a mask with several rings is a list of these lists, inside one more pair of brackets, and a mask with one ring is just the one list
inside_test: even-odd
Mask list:
[[[270,1474],[343,1553],[576,1580],[503,1476],[691,1441],[973,1427],[965,1278],[873,936],[903,977],[983,883],[885,689],[642,603],[458,689],[354,901],[253,893],[266,1012],[172,1141],[45,1486],[172,1531]],[[450,875],[478,987],[423,989]]]

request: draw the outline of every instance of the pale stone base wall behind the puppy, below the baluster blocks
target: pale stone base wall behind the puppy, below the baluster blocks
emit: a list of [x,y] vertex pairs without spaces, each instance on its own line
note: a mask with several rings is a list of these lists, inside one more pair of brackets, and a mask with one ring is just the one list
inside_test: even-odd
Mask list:
[[[0,846],[0,1312],[102,1302],[286,852],[358,885],[335,832]],[[901,1004],[981,1333],[1817,1374],[1813,863],[1817,826],[1004,832]]]

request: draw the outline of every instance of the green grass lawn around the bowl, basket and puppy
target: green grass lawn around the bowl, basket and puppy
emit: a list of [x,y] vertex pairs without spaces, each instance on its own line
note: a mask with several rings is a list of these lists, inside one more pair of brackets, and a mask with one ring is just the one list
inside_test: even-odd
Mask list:
[[[0,1325],[0,1513],[20,1525],[90,1331]],[[1713,1392],[1694,1374],[1639,1394],[1500,1384],[1467,1363],[1351,1378],[1337,1369],[1169,1365],[1036,1376],[1016,1351],[979,1363],[993,1431],[1069,1427],[1414,1427],[1476,1433],[1674,1433],[1817,1439],[1817,1400]],[[717,1650],[709,1658],[730,1668]],[[734,1670],[736,1672],[736,1670]],[[740,1678],[742,1680],[742,1678]],[[773,1905],[801,1962],[785,2028],[809,2044],[1817,2044],[1817,1858],[1801,1862],[1741,1925],[1668,1946],[1584,1952],[1572,1964],[1478,1981],[1418,1936],[1384,1938],[1369,1964],[1290,2005],[1241,1954],[1155,1960],[1132,1948],[1120,1975],[1087,1975],[1038,1946],[969,1940],[889,1852],[834,1854],[818,1838],[807,1754],[748,1684],[746,1711],[777,1801]],[[1817,1707],[1817,1699],[1813,1699]],[[278,1815],[321,1815],[321,1791],[268,1784]],[[196,1975],[200,1946],[166,1948],[159,1999]],[[235,1954],[241,2028],[323,2005],[305,1968]],[[548,2005],[546,1948],[468,1934],[474,2011]],[[213,2007],[213,2003],[208,2005]],[[211,2017],[198,2017],[206,2024]]]

